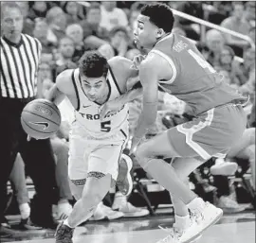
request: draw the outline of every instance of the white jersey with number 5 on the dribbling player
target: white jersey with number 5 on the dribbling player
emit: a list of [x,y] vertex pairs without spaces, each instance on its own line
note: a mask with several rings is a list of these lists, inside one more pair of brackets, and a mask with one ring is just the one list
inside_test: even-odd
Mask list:
[[[72,80],[75,86],[76,95],[78,98],[78,108],[75,111],[75,119],[82,125],[86,132],[98,138],[112,136],[118,131],[125,133],[127,136],[128,130],[128,105],[124,105],[119,112],[112,113],[100,120],[101,105],[90,101],[82,90],[81,78],[79,69],[75,69],[72,73]],[[119,86],[112,72],[107,73],[107,84],[109,86],[109,94],[107,100],[113,100],[119,97]]]

